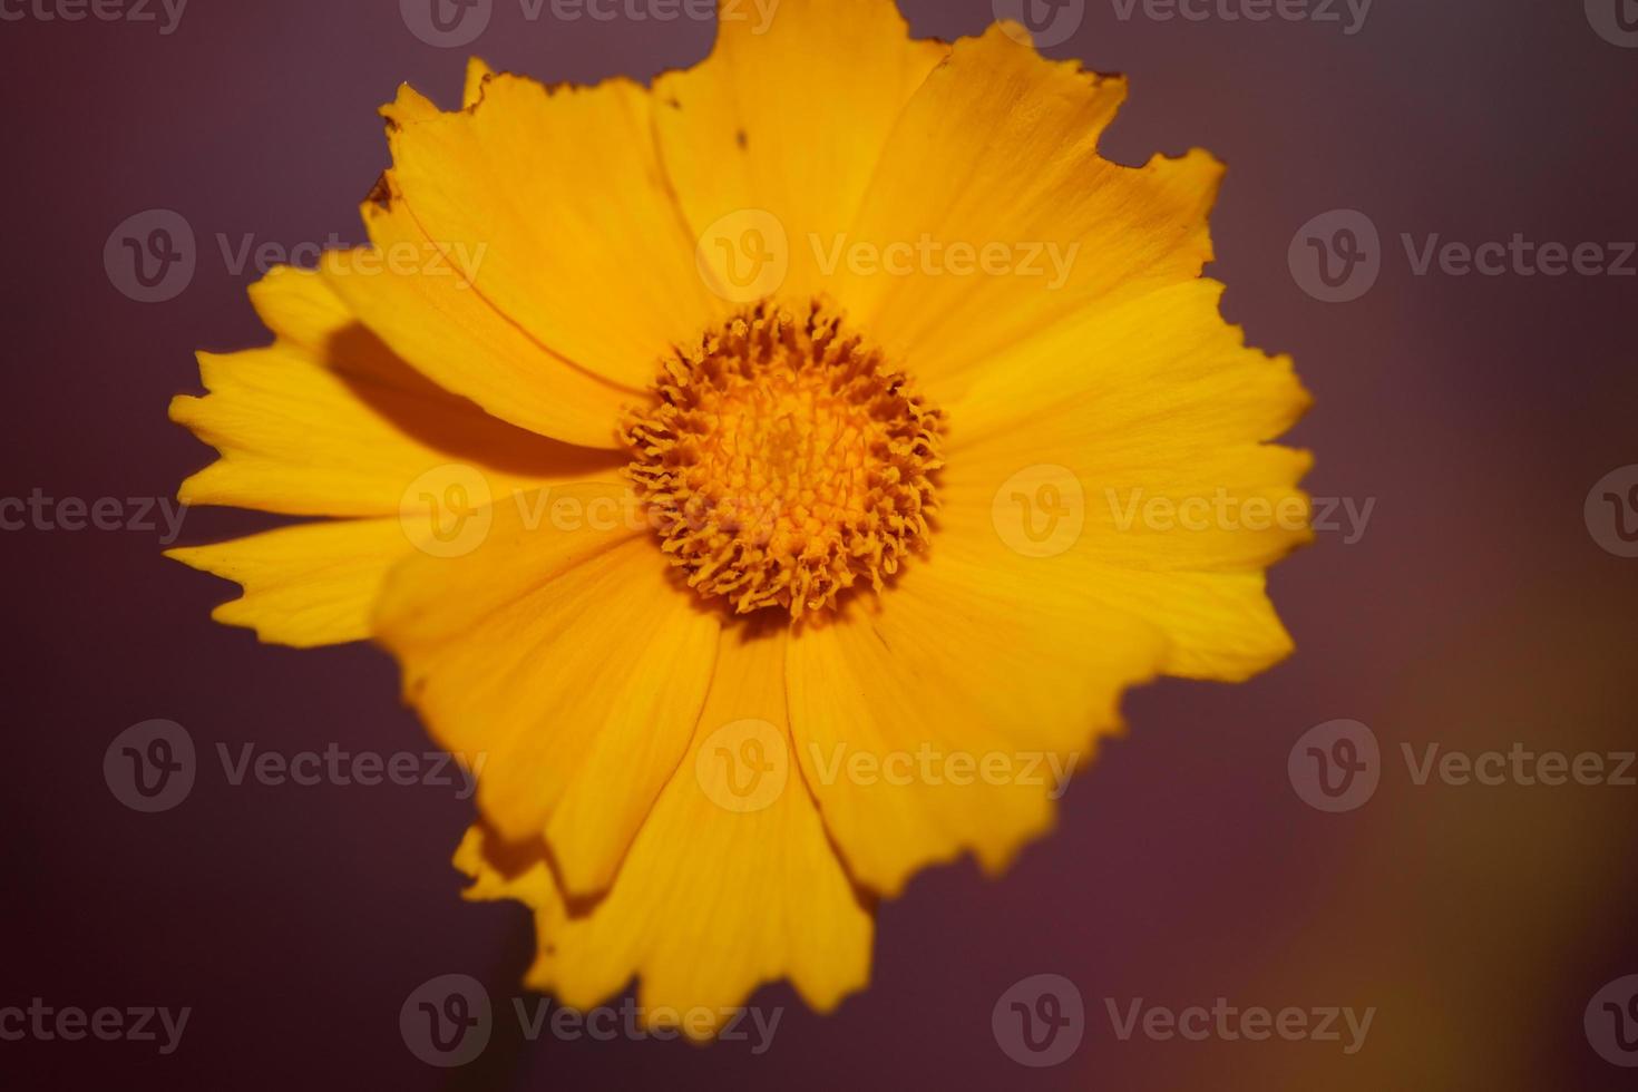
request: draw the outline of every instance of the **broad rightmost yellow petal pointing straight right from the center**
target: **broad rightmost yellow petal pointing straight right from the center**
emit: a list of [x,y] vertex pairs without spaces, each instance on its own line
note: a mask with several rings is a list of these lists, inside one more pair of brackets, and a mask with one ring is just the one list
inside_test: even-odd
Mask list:
[[1307,542],[1310,458],[1265,440],[1309,396],[1222,321],[1220,291],[1186,282],[998,355],[950,408],[943,526],[1045,529],[1057,496],[1076,557],[1133,570],[1247,571]]

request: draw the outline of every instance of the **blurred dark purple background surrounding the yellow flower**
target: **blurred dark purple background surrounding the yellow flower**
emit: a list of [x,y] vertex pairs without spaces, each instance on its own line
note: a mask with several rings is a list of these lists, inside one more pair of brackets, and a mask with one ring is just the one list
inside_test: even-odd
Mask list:
[[[647,79],[713,38],[688,20],[529,21],[516,0],[464,49],[419,41],[393,0],[193,0],[169,34],[157,5],[157,23],[0,7],[0,494],[16,498],[169,498],[210,458],[165,403],[197,390],[197,347],[265,341],[244,298],[256,268],[236,272],[221,246],[360,241],[357,201],[387,165],[375,106],[398,82],[450,105],[468,52],[547,80]],[[904,8],[942,38],[993,18],[989,0]],[[1292,435],[1319,457],[1309,490],[1374,501],[1355,542],[1345,521],[1274,571],[1291,661],[1245,686],[1133,693],[1130,737],[1004,881],[937,869],[883,907],[868,992],[816,1017],[783,986],[762,990],[757,1005],[785,1007],[767,1053],[529,1043],[511,1013],[526,914],[460,902],[449,868],[468,802],[234,787],[215,765],[218,743],[423,750],[383,653],[267,648],[215,625],[231,588],[162,560],[159,530],[0,532],[0,1007],[193,1010],[169,1056],[0,1041],[0,1085],[1631,1087],[1582,1012],[1638,972],[1638,789],[1417,786],[1399,747],[1638,747],[1638,560],[1600,548],[1582,516],[1595,481],[1638,463],[1638,278],[1415,275],[1399,237],[1638,239],[1638,49],[1574,0],[1378,0],[1353,34],[1340,3],[1333,23],[1125,10],[1091,0],[1048,52],[1132,77],[1111,157],[1204,146],[1227,160],[1212,219],[1225,311],[1292,352],[1317,398]],[[144,305],[110,283],[103,244],[151,208],[188,221],[198,268]],[[1382,268],[1363,298],[1327,305],[1287,247],[1338,208],[1379,229]],[[267,522],[201,509],[182,542]],[[152,717],[183,724],[206,761],[180,807],[139,815],[102,761]],[[1322,814],[1286,760],[1338,717],[1371,725],[1382,781],[1358,810]],[[452,1071],[398,1030],[405,997],[446,972],[482,979],[498,1013],[490,1048]],[[1027,1069],[991,1009],[1042,972],[1078,986],[1084,1040]],[[1106,1013],[1106,999],[1217,997],[1378,1012],[1351,1056],[1122,1041]]]

